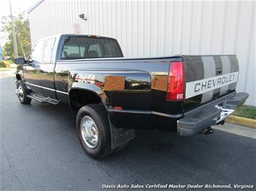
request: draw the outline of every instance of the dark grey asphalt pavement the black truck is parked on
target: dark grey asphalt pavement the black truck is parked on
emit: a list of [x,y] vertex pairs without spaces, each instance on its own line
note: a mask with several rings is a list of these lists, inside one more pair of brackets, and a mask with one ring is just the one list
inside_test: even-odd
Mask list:
[[102,185],[256,186],[256,139],[215,130],[180,137],[138,131],[121,152],[97,161],[76,138],[69,106],[19,103],[14,79],[0,79],[0,190],[100,190]]

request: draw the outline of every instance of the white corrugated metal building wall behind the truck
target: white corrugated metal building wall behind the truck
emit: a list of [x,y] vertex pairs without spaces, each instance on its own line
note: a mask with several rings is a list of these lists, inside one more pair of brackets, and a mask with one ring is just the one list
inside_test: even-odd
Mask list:
[[[50,1],[29,11],[32,44],[59,33],[118,39],[125,57],[235,54],[256,106],[255,1]],[[80,19],[84,14],[87,20]]]

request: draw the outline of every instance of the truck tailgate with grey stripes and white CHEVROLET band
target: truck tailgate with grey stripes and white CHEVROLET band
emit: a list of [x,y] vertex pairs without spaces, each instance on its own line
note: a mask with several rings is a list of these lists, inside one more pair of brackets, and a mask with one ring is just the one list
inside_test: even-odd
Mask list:
[[185,55],[185,111],[235,91],[236,55]]

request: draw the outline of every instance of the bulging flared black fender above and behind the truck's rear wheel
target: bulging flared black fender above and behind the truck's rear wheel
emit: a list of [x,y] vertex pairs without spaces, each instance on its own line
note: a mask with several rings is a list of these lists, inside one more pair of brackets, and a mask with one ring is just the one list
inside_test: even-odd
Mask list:
[[109,108],[151,110],[151,76],[138,70],[71,70],[70,89],[76,83],[87,83],[100,88],[99,95]]

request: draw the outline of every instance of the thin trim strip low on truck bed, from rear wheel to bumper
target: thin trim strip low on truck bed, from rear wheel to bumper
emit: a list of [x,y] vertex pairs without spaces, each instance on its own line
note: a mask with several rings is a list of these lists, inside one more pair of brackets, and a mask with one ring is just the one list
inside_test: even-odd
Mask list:
[[172,115],[172,114],[161,113],[161,112],[157,112],[157,111],[137,111],[137,110],[125,110],[125,109],[113,109],[113,108],[109,109],[108,111],[118,112],[118,113],[153,114],[156,116],[164,116],[164,117],[170,117],[170,118],[180,118],[183,116],[182,114]]

